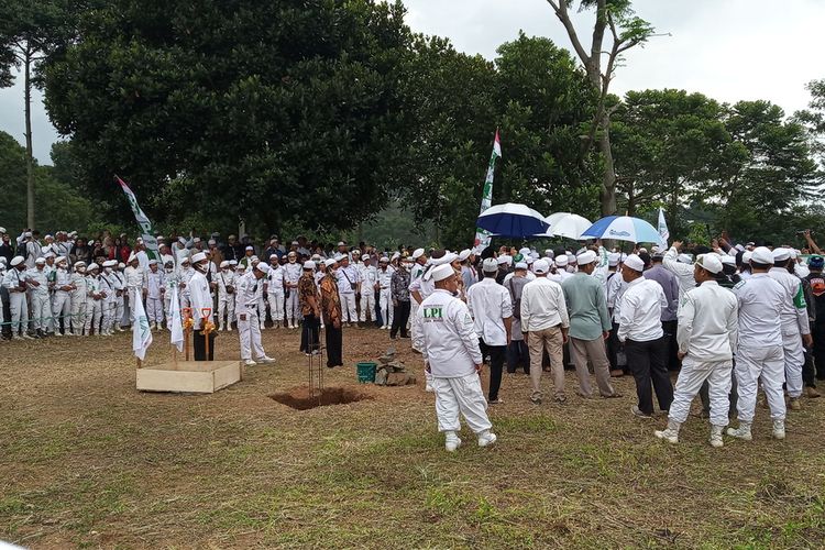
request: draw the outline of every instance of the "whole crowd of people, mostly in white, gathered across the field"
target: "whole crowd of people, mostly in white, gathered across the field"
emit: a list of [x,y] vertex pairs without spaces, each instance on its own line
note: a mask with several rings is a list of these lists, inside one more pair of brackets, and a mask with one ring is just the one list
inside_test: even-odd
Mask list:
[[[156,235],[160,257],[127,235],[86,240],[59,231],[41,240],[36,231],[12,238],[0,228],[0,238],[6,338],[110,336],[134,321],[138,301],[161,330],[179,304],[200,331],[196,360],[211,359],[206,340],[215,333],[205,329],[212,324],[239,330],[250,366],[274,361],[261,330],[300,329],[300,350],[323,350],[336,367],[343,365],[343,329],[374,326],[391,339],[411,338],[422,355],[450,451],[461,444],[460,416],[480,446],[496,441],[486,410],[502,403],[505,369],[529,374],[536,405],[544,400],[544,372],[560,404],[565,366],[585,398],[594,394],[591,367],[603,398],[619,397],[612,378],[630,374],[631,413],[652,418],[654,395],[668,414],[654,435],[670,442],[700,395],[714,447],[723,433],[751,439],[760,383],[772,435],[783,439],[787,408],[801,408],[803,393],[818,397],[816,381],[825,380],[825,261],[810,233],[803,250],[721,239],[690,253],[673,242],[629,254],[598,241],[575,252],[502,246],[476,254],[324,246],[302,237],[258,245],[248,235],[226,243],[218,233]],[[679,371],[675,387],[671,371]],[[725,431],[734,416],[738,427]]]

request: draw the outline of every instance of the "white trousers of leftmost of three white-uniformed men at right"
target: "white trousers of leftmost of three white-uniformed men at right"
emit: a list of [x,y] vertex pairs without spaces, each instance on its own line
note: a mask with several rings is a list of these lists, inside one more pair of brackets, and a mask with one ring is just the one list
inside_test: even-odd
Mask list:
[[696,397],[702,384],[707,381],[707,395],[711,398],[711,424],[727,426],[730,408],[730,374],[734,370],[733,361],[703,363],[690,359],[682,360],[676,387],[673,391],[673,403],[670,405],[668,418],[683,424],[691,411],[691,402]]

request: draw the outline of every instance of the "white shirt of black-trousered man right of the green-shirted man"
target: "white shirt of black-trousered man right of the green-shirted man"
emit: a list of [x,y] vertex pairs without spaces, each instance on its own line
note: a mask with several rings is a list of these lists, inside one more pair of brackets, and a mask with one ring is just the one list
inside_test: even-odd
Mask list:
[[619,341],[649,342],[661,338],[662,309],[667,307],[664,290],[656,280],[639,277],[629,283],[619,304]]

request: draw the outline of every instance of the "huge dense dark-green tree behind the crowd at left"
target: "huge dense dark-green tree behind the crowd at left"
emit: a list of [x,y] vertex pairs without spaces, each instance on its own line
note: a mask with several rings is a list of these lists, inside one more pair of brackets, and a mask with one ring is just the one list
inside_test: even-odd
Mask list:
[[352,227],[406,184],[403,14],[370,0],[114,0],[50,63],[46,106],[89,191],[117,194],[118,173],[157,221]]

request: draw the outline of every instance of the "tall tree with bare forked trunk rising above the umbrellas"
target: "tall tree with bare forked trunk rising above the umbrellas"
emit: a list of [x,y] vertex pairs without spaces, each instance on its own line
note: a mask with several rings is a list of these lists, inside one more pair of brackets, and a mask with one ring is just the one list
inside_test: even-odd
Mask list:
[[[581,0],[580,9],[593,11],[595,21],[590,46],[579,37],[570,15],[570,0],[547,0],[570,37],[573,51],[579,56],[587,79],[598,95],[591,131],[583,140],[584,152],[595,142],[603,158],[601,206],[602,215],[616,212],[616,170],[610,147],[610,116],[615,105],[610,102],[609,88],[615,70],[628,50],[644,44],[653,34],[653,28],[637,18],[630,0]],[[609,44],[609,45],[608,45]]]

